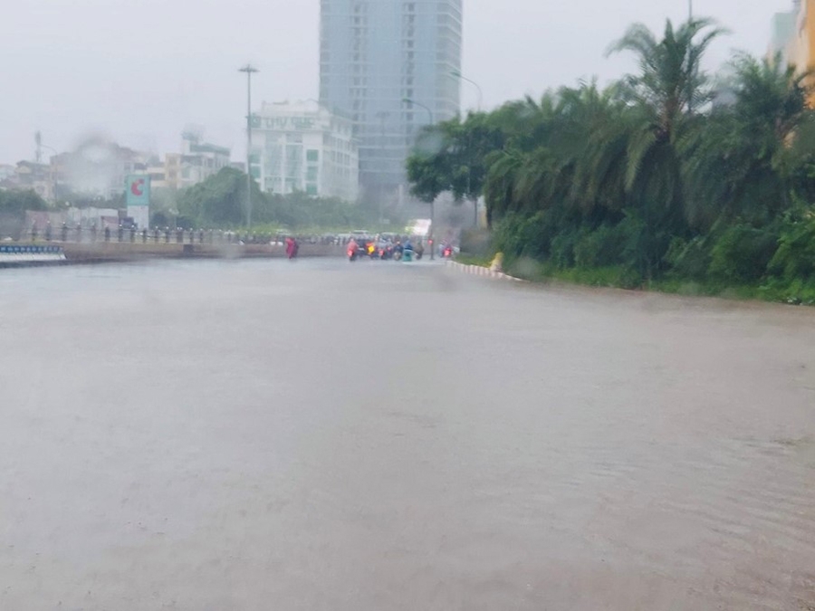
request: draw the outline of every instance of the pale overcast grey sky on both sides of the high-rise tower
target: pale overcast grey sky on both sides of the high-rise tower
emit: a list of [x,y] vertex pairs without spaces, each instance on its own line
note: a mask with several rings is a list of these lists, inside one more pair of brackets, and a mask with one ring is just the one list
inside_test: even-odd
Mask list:
[[[90,132],[164,154],[188,124],[244,154],[247,61],[254,100],[317,97],[319,0],[18,0],[0,11],[0,163],[63,150]],[[661,30],[687,0],[464,0],[464,72],[486,106],[634,68],[605,58],[628,24]],[[709,55],[764,53],[791,0],[694,0],[732,30]],[[463,87],[465,108],[475,89]],[[255,107],[256,105],[253,104]],[[49,151],[45,151],[46,154]]]

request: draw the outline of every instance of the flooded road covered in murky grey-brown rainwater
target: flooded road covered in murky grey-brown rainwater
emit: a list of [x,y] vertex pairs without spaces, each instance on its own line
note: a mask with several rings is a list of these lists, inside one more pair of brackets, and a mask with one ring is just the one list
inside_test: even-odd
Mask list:
[[815,310],[0,273],[0,608],[815,609]]

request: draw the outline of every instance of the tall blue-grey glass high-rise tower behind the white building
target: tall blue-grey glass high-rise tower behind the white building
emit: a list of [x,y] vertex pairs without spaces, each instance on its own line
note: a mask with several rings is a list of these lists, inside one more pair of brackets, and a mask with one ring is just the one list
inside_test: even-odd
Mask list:
[[406,184],[431,119],[418,104],[434,121],[459,111],[461,39],[462,0],[321,0],[320,101],[353,120],[363,196]]

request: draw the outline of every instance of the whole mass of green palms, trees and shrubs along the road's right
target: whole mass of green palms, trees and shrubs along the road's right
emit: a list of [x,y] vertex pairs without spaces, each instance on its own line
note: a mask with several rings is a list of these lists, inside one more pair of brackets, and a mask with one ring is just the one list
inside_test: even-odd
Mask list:
[[809,74],[736,54],[724,31],[633,25],[609,53],[638,72],[426,129],[415,195],[483,195],[509,272],[629,288],[815,302],[815,113]]

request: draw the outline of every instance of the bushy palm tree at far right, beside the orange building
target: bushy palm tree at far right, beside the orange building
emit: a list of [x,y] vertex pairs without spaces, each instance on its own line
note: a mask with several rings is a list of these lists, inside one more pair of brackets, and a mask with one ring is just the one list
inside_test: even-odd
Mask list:
[[731,68],[733,105],[715,109],[683,144],[687,214],[703,231],[720,218],[765,224],[810,183],[801,181],[815,152],[810,74],[780,55],[739,54]]

